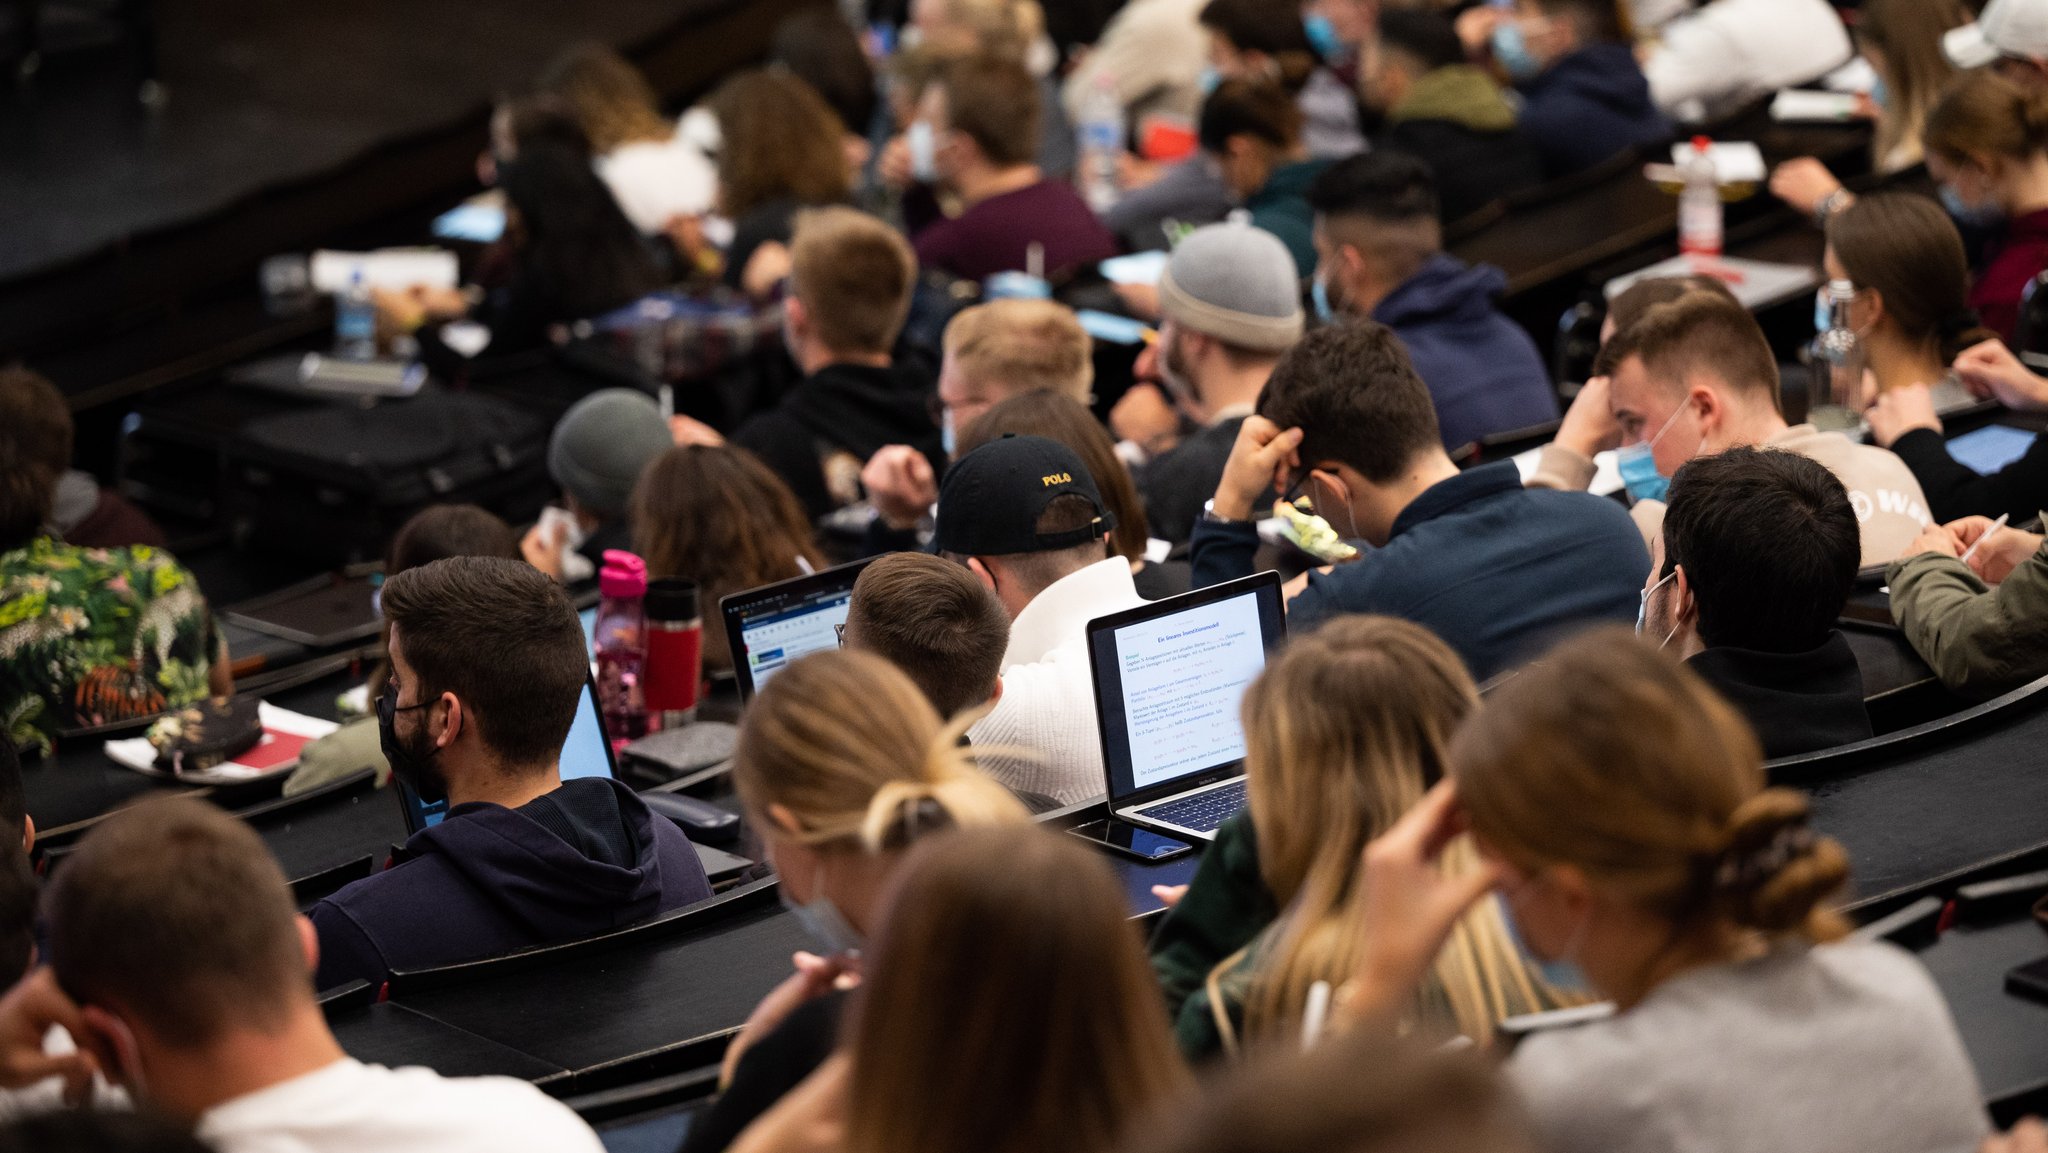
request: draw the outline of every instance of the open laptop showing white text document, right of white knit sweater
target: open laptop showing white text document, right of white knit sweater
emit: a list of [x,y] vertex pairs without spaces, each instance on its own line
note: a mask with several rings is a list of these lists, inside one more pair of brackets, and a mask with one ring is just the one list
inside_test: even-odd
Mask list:
[[1284,637],[1270,571],[1087,623],[1114,817],[1214,840],[1245,807],[1239,702]]

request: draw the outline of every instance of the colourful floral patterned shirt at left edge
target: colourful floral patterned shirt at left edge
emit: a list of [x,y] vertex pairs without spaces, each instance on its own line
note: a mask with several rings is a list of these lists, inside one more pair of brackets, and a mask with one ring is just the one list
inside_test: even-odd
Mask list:
[[37,537],[0,553],[0,733],[20,748],[203,700],[225,657],[199,582],[162,549]]

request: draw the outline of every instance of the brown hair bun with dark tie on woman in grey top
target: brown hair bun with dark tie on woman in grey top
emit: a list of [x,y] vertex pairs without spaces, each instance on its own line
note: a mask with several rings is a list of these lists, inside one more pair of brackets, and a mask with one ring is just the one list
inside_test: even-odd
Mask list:
[[1714,860],[1714,895],[1741,926],[1792,932],[1849,879],[1841,844],[1812,831],[1802,793],[1765,788],[1729,817]]

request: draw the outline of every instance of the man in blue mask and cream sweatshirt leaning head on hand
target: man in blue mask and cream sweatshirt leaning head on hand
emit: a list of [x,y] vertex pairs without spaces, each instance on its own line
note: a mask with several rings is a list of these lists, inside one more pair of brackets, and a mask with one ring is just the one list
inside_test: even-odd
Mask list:
[[[1778,387],[1778,358],[1749,309],[1688,293],[1614,334],[1599,352],[1599,377],[1579,391],[1573,412],[1608,408],[1630,457],[1622,481],[1638,506],[1661,502],[1669,475],[1694,457],[1737,444],[1784,449],[1821,461],[1849,489],[1864,526],[1864,567],[1896,557],[1929,524],[1919,481],[1884,449],[1812,424],[1788,426]],[[1563,469],[1567,455],[1563,446],[1546,451],[1534,483],[1585,487],[1591,459],[1581,455],[1575,469]],[[1559,479],[1546,479],[1552,475]],[[1636,518],[1649,537],[1655,508]]]

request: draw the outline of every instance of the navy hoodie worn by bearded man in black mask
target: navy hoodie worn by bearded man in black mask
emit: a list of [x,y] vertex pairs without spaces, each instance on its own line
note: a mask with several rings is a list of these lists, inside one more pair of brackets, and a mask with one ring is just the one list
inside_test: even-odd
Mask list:
[[696,848],[625,784],[567,780],[518,809],[469,803],[391,868],[313,905],[315,985],[596,936],[711,897]]

